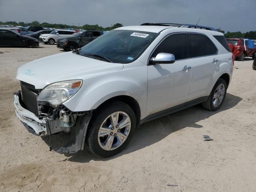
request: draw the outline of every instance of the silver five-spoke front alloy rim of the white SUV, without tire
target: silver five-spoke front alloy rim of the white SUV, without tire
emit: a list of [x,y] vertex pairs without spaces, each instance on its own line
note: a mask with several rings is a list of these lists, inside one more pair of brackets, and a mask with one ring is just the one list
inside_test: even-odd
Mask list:
[[120,147],[127,139],[131,128],[128,114],[122,111],[110,114],[102,122],[98,131],[98,143],[104,150],[110,151]]

